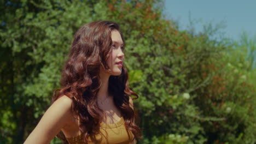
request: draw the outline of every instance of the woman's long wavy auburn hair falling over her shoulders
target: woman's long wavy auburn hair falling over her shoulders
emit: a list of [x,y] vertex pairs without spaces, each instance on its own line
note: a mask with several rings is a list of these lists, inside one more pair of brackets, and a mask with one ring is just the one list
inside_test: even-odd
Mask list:
[[[85,143],[97,143],[103,111],[97,104],[97,93],[101,87],[100,69],[107,70],[107,59],[112,52],[111,32],[117,30],[123,39],[119,25],[110,21],[96,21],[82,26],[74,35],[68,59],[61,74],[61,88],[56,89],[53,102],[63,95],[73,100],[71,111],[79,118],[79,128]],[[138,95],[129,88],[127,69],[123,65],[122,73],[109,77],[108,91],[113,95],[114,104],[125,119],[125,128],[134,138],[141,139],[141,130],[135,123],[138,116],[129,104],[129,96]],[[62,131],[57,135],[67,143]]]

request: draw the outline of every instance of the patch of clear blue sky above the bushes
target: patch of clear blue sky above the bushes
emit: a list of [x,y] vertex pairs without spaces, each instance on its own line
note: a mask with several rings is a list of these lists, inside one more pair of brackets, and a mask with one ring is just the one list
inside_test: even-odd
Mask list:
[[181,30],[188,29],[190,17],[196,32],[211,22],[221,23],[226,38],[238,40],[243,31],[256,35],[256,0],[166,0],[164,14],[178,21]]

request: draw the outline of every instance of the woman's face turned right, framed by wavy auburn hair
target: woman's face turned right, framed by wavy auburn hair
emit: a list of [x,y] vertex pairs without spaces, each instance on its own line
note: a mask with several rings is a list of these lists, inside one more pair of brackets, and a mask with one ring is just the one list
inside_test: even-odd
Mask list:
[[124,53],[123,53],[123,40],[117,30],[111,32],[112,39],[112,53],[107,59],[110,75],[120,75],[122,72]]

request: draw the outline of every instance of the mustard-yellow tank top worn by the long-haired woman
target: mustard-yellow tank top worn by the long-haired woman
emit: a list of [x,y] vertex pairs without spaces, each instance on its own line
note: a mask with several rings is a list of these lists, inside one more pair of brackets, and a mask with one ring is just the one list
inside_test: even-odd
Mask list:
[[[100,131],[103,136],[96,135],[96,139],[101,139],[101,144],[129,144],[133,138],[131,131],[127,132],[125,129],[123,117],[121,117],[120,121],[117,123],[101,123]],[[66,139],[69,144],[84,144],[81,135]]]

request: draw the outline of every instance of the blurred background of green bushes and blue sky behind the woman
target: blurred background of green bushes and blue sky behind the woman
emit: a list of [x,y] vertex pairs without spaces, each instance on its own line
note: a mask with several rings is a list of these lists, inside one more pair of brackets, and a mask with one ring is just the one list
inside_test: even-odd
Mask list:
[[[138,143],[256,143],[255,1],[1,1],[0,143],[22,143],[51,104],[73,35],[119,23]],[[61,143],[55,138],[51,143]]]

